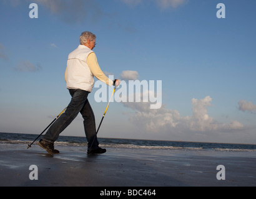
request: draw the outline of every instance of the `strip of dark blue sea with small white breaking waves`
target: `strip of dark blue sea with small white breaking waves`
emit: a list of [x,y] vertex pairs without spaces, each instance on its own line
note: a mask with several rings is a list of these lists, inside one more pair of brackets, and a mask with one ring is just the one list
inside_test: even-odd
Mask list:
[[[0,132],[0,144],[24,144],[26,148],[38,135]],[[39,138],[40,139],[40,138]],[[37,141],[39,141],[39,139]],[[152,141],[140,139],[98,138],[101,147],[120,149],[165,149],[165,150],[222,150],[256,151],[255,144],[225,144],[210,142]],[[36,141],[36,142],[37,142]],[[34,142],[34,144],[36,144]],[[86,137],[59,136],[56,146],[87,147]]]

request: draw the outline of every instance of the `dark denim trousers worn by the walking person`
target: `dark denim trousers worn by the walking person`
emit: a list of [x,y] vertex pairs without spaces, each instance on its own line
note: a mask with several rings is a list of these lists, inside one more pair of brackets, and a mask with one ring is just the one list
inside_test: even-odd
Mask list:
[[52,124],[42,139],[54,143],[59,137],[59,134],[71,124],[80,112],[82,118],[84,118],[84,131],[86,133],[88,149],[97,149],[99,147],[99,142],[97,141],[96,136],[94,113],[87,99],[89,92],[80,89],[70,89],[69,93],[72,96],[69,106],[67,106],[66,111],[55,121],[55,123]]

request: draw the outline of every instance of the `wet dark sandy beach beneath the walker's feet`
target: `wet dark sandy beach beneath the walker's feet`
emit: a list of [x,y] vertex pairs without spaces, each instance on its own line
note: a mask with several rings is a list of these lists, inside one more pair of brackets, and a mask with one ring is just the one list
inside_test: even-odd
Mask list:
[[[0,186],[13,187],[244,187],[256,185],[255,151],[56,146],[51,156],[34,144],[0,144]],[[35,169],[29,170],[31,165]],[[217,170],[218,165],[224,169]],[[30,178],[37,172],[37,180]],[[218,180],[222,172],[225,180]]]

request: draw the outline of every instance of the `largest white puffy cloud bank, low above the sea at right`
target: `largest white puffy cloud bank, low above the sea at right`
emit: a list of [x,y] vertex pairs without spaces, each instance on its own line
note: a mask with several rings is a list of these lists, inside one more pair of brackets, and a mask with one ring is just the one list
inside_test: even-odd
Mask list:
[[167,109],[162,105],[160,109],[150,109],[150,103],[123,103],[124,106],[134,109],[136,112],[130,117],[130,121],[137,125],[141,131],[147,132],[183,132],[200,134],[199,132],[232,131],[242,129],[239,121],[231,121],[229,124],[220,123],[207,113],[207,108],[212,106],[212,98],[192,100],[192,116],[180,116],[179,111]]

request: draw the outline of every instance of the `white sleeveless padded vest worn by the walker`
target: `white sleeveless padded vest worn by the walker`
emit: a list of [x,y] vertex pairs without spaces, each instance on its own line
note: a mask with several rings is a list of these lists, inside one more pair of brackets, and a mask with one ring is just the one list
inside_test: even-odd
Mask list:
[[69,54],[66,68],[67,89],[92,91],[94,76],[87,65],[87,57],[92,52],[85,45],[79,45]]

